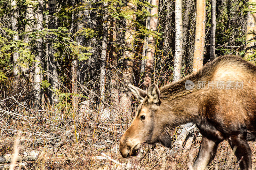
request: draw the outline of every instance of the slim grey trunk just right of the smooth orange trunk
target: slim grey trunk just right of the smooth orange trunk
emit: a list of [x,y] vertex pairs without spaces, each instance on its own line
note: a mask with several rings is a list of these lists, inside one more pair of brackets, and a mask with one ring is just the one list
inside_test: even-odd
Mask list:
[[211,16],[212,16],[212,24],[211,24],[211,45],[210,45],[210,60],[214,60],[215,58],[215,32],[216,32],[216,0],[212,0],[211,7]]

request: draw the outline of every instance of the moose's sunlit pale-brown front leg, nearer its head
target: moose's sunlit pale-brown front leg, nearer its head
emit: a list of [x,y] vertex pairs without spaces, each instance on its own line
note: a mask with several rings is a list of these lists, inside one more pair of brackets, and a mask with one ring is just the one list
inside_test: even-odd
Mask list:
[[207,137],[202,137],[200,150],[194,162],[193,169],[204,170],[208,163],[215,157],[218,144],[220,142],[213,141]]

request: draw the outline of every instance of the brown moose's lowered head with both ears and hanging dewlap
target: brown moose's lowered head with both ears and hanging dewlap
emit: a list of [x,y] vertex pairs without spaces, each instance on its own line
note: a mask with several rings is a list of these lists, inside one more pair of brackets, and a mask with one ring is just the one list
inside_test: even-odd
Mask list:
[[161,116],[160,91],[156,84],[142,89],[129,85],[134,96],[140,100],[136,116],[131,126],[125,131],[120,141],[119,151],[124,158],[137,155],[143,143],[162,143],[171,147],[171,137],[166,130],[165,121]]

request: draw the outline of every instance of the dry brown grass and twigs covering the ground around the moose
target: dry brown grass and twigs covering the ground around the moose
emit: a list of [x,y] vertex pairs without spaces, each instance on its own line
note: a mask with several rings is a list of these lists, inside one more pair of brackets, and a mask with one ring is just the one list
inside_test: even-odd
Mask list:
[[[39,152],[38,159],[18,163],[16,169],[184,170],[193,162],[200,147],[201,137],[196,135],[192,147],[181,149],[175,158],[161,144],[144,144],[138,156],[124,159],[119,153],[119,140],[132,118],[125,121],[117,115],[109,121],[100,119],[98,112],[92,112],[89,116],[78,114],[74,120],[72,114],[42,110],[26,112],[22,108],[0,109],[0,155],[13,154],[15,149],[20,153]],[[176,132],[178,135],[179,130]],[[256,143],[249,144],[255,169]],[[0,169],[9,169],[9,166],[10,163],[0,164]],[[227,141],[218,146],[217,155],[208,169],[239,169]]]

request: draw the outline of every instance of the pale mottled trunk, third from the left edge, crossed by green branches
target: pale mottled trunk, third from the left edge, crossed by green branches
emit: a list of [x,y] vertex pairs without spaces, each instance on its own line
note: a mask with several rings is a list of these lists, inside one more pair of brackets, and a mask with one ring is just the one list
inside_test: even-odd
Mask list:
[[[37,31],[42,31],[43,28],[43,5],[44,5],[44,0],[38,0],[38,5],[37,5],[37,24],[36,24],[36,29]],[[40,62],[42,59],[43,55],[43,38],[39,37],[36,40],[36,47],[37,47],[37,55],[35,57],[35,75],[34,75],[34,90],[35,90],[35,107],[38,108],[40,106],[40,100],[41,100],[41,83],[42,83],[42,78],[41,78],[41,69],[40,69]]]

